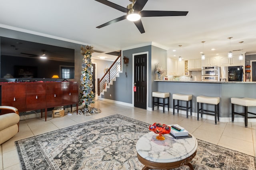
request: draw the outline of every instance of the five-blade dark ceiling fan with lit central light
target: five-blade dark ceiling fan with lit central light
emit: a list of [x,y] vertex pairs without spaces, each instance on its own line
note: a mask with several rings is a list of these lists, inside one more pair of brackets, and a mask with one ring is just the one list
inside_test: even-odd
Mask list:
[[[99,25],[96,28],[102,28],[127,18],[127,20],[134,22],[136,27],[139,29],[140,33],[144,33],[145,30],[142,25],[142,21],[140,20],[140,17],[186,16],[188,14],[188,11],[146,11],[146,10],[142,11],[142,8],[145,6],[148,0],[129,0],[130,2],[132,2],[132,4],[129,4],[127,8],[124,8],[120,5],[114,4],[107,0],[96,0],[96,1],[126,13],[126,15],[116,18],[114,20],[108,21],[102,25]],[[135,17],[136,19],[133,19],[132,17]]]

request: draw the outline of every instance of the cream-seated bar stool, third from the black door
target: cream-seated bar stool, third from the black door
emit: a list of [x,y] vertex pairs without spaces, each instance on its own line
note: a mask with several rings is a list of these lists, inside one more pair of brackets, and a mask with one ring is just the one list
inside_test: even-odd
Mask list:
[[[201,113],[201,117],[203,117],[203,114],[206,115],[214,115],[215,116],[215,124],[217,124],[217,117],[219,121],[219,104],[220,104],[220,97],[209,97],[209,96],[197,96],[196,97],[197,102],[197,120],[199,120],[199,113]],[[199,103],[201,105],[201,108],[199,108]],[[210,110],[204,110],[203,104],[212,104],[214,105],[214,111]],[[214,113],[214,114],[213,114]]]

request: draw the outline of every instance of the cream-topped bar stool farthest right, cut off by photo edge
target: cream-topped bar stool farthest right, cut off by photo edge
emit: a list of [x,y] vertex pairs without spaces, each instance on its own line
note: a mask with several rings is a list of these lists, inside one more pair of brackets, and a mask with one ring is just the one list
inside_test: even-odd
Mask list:
[[[237,113],[234,111],[234,105],[244,106],[244,113]],[[248,117],[248,113],[252,115],[256,115],[256,113],[252,113],[248,111],[248,107],[256,106],[256,99],[254,98],[231,98],[232,105],[232,122],[234,122],[234,115],[244,116],[244,125],[247,127],[248,118],[256,118],[256,116]]]

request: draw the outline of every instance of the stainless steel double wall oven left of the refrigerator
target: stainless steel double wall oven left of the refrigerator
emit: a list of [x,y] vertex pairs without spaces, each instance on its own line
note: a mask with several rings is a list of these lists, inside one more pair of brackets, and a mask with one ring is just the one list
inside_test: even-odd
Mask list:
[[218,81],[218,66],[202,67],[202,81]]

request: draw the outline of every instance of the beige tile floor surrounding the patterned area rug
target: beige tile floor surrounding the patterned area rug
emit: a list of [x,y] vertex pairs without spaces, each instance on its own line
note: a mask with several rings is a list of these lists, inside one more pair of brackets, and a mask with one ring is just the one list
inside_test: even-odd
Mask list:
[[215,125],[212,120],[200,119],[200,121],[197,121],[196,117],[188,117],[186,119],[186,115],[182,114],[176,113],[173,115],[172,112],[162,113],[161,110],[147,111],[145,109],[122,106],[100,100],[97,100],[92,106],[101,109],[102,112],[91,116],[73,114],[58,118],[52,118],[49,115],[47,121],[39,117],[21,120],[18,134],[0,145],[0,170],[21,169],[14,141],[113,114],[124,115],[150,124],[154,122],[179,124],[197,139],[237,150],[251,156],[255,156],[256,154],[256,122],[248,122],[248,128],[245,128],[243,122],[218,122]]

